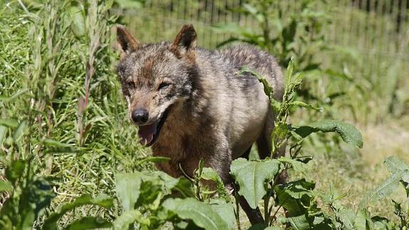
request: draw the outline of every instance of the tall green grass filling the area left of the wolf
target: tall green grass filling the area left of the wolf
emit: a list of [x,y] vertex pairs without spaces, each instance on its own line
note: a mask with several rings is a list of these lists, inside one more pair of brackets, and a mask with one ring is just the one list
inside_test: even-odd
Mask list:
[[111,5],[1,5],[1,120],[26,125],[14,143],[11,127],[0,123],[0,136],[6,137],[0,138],[0,167],[4,172],[12,161],[28,160],[36,174],[52,177],[57,197],[51,209],[84,193],[115,196],[114,172],[140,169],[138,159],[148,153],[119,95]]

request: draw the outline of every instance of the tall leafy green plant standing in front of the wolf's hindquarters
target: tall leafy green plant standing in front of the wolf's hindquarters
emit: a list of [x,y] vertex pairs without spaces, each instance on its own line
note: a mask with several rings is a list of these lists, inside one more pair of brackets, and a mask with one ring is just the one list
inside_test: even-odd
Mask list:
[[[305,173],[304,164],[308,160],[305,161],[304,157],[299,157],[299,153],[304,137],[313,132],[337,132],[343,140],[357,147],[362,147],[362,137],[354,126],[339,121],[322,120],[302,127],[287,124],[290,107],[301,106],[314,109],[312,105],[294,101],[294,95],[302,83],[302,77],[300,74],[293,76],[293,69],[294,62],[290,61],[285,74],[285,93],[282,102],[272,98],[272,88],[262,78],[262,75],[248,69],[240,72],[252,73],[264,85],[265,93],[270,98],[272,110],[276,114],[275,128],[271,135],[272,152],[270,152],[270,158],[266,160],[239,158],[232,162],[230,170],[235,182],[240,187],[238,194],[245,197],[250,207],[255,209],[263,200],[265,226],[277,224],[278,211],[284,208],[290,217],[281,218],[280,223],[282,224],[290,224],[295,229],[329,227],[332,224],[331,219],[327,218],[317,207],[313,192],[314,183],[300,179],[280,184],[278,180],[280,172],[295,169]],[[290,145],[288,148],[290,157],[274,159],[278,150],[286,144]],[[275,210],[273,210],[274,208]]]

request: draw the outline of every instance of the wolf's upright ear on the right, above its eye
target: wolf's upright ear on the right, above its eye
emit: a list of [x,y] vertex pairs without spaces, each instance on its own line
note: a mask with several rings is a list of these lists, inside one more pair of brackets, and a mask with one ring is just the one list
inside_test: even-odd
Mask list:
[[186,24],[181,28],[174,42],[171,44],[171,51],[176,56],[188,55],[194,57],[193,51],[196,48],[196,31],[192,24]]

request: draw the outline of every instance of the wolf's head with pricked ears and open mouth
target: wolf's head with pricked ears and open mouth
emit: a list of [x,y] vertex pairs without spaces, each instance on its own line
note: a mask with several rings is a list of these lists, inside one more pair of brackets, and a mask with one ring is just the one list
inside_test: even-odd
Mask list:
[[117,75],[127,99],[129,117],[139,137],[152,145],[176,104],[192,94],[196,31],[185,25],[172,43],[142,44],[124,27],[117,27],[121,59]]

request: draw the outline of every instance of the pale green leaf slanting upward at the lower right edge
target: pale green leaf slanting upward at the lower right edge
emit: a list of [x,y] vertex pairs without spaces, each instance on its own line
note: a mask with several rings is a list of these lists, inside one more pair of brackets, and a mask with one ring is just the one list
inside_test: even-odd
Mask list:
[[359,204],[359,209],[363,209],[369,202],[373,200],[382,199],[392,192],[395,192],[399,187],[400,179],[402,179],[402,177],[407,174],[409,174],[408,169],[401,170],[399,172],[396,172],[395,174],[392,174],[392,176],[386,179],[386,181],[383,182],[379,187],[363,197],[361,203]]

